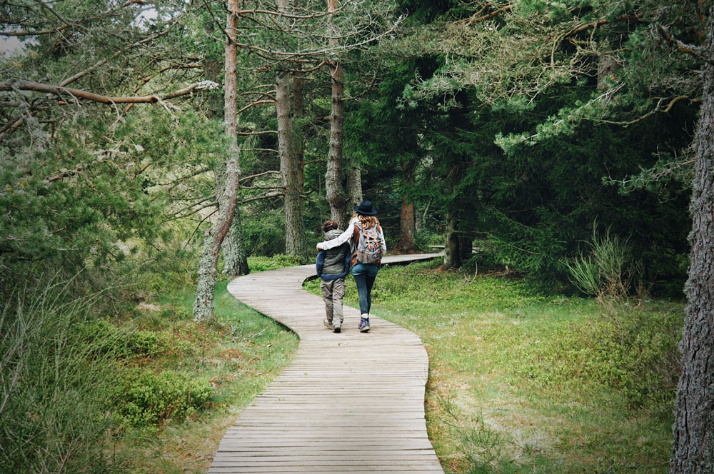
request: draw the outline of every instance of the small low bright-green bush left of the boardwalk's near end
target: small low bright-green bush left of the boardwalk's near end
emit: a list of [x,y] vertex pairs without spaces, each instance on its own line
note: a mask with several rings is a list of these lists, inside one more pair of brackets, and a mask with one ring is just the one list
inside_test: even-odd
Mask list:
[[158,425],[169,418],[183,420],[212,395],[208,380],[174,370],[130,370],[116,388],[114,415],[122,425],[134,426]]

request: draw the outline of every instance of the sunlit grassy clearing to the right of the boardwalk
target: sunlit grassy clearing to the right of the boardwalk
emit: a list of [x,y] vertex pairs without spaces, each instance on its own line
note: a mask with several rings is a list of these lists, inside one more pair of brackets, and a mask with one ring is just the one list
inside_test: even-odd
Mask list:
[[383,268],[373,313],[427,348],[428,430],[447,472],[668,472],[681,306],[613,321],[592,299],[435,267]]

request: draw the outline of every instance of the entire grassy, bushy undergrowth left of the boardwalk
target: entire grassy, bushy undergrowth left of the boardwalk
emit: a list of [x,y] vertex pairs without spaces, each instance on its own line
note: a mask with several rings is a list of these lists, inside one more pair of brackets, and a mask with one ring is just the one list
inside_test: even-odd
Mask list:
[[162,264],[163,287],[155,266],[134,270],[134,286],[77,296],[76,282],[50,283],[3,306],[0,473],[208,470],[228,425],[291,360],[297,338],[238,303],[226,281],[216,321],[193,322],[186,262]]

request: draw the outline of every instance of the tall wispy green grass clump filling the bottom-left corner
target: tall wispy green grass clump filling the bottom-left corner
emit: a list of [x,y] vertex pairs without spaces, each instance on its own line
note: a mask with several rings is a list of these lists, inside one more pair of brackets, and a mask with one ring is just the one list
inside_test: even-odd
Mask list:
[[[62,302],[63,288],[15,294],[0,315],[0,471],[110,473],[104,456],[111,418],[113,361],[101,340],[79,341],[93,312],[86,300]],[[51,295],[51,296],[50,296]]]

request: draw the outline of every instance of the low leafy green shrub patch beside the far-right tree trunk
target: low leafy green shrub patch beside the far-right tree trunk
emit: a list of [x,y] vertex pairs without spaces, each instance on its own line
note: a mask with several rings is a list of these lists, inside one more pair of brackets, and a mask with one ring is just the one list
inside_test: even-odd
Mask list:
[[563,326],[522,346],[516,373],[536,383],[595,381],[617,388],[628,403],[669,413],[680,372],[679,312],[630,310],[619,324],[600,319]]

